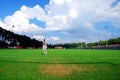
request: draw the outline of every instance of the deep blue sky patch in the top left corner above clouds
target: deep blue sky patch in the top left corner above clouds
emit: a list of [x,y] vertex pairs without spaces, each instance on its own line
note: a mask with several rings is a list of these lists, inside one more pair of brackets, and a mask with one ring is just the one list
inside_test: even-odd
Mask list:
[[33,7],[38,4],[44,8],[48,3],[49,0],[2,0],[0,2],[0,17],[3,19],[7,15],[14,14],[22,5]]

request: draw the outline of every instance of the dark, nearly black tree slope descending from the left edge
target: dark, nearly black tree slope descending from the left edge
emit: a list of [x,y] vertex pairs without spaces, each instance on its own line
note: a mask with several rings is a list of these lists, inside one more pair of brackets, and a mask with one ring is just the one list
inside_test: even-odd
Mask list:
[[42,46],[42,41],[31,39],[25,35],[14,34],[0,27],[0,47],[7,48],[8,46],[39,48]]

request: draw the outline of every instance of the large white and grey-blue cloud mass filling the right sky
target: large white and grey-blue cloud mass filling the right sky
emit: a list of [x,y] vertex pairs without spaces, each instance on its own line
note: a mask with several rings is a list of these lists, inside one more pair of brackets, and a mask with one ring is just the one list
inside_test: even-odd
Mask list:
[[[105,40],[106,36],[109,37],[107,32],[95,30],[94,24],[107,21],[119,26],[120,2],[112,7],[114,2],[115,0],[64,0],[59,5],[51,1],[47,8],[48,15],[53,17],[53,21],[51,25],[47,25],[47,28],[49,30],[66,30],[66,33],[73,38],[84,37],[87,42]],[[69,27],[63,25],[60,18],[54,20],[57,15],[65,16],[64,20]]]

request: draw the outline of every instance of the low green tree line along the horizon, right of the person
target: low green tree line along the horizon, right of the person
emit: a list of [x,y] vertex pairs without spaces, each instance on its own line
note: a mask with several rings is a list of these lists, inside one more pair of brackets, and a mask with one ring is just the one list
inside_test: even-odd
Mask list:
[[106,41],[92,42],[92,43],[67,43],[67,44],[55,44],[49,45],[51,48],[55,48],[55,46],[62,46],[63,48],[92,48],[93,46],[106,46],[106,45],[120,45],[120,38],[109,39]]

